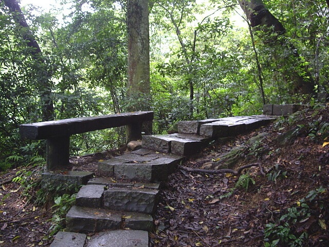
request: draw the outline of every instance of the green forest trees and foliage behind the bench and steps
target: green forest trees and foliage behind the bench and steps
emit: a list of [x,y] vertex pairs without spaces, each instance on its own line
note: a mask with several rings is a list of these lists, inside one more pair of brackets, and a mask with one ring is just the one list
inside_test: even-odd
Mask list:
[[[65,4],[64,4],[65,2]],[[328,1],[149,1],[150,95],[128,95],[127,2],[0,2],[0,171],[44,155],[19,125],[145,107],[154,133],[179,120],[261,114],[264,103],[327,93]],[[17,6],[19,6],[17,8]],[[71,137],[81,155],[123,144],[123,130]]]

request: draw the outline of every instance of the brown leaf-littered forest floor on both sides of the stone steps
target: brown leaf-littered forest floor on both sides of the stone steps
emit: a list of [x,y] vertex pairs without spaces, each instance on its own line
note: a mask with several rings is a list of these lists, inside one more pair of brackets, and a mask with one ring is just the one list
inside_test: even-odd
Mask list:
[[[151,245],[329,246],[328,130],[327,106],[216,140],[162,185]],[[75,169],[95,171],[98,160],[118,152],[71,162]],[[235,175],[184,168],[216,173],[228,161],[233,170],[257,165]],[[33,205],[12,182],[2,185],[0,198],[0,246],[49,246],[51,203]]]

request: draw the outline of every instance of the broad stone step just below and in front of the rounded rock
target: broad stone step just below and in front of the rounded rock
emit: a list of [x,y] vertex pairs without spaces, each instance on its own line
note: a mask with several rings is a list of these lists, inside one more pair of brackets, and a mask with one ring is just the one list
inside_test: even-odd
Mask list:
[[174,154],[139,149],[99,162],[98,172],[102,177],[118,180],[161,182],[168,180],[182,158]]

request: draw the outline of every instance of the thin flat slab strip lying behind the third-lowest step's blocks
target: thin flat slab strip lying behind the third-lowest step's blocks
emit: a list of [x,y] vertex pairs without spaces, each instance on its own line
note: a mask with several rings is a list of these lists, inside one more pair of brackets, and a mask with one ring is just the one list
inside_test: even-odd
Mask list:
[[93,178],[88,181],[88,184],[104,185],[107,187],[121,187],[121,188],[148,188],[159,189],[159,183],[140,183],[140,182],[127,182],[121,183],[115,181],[113,178]]

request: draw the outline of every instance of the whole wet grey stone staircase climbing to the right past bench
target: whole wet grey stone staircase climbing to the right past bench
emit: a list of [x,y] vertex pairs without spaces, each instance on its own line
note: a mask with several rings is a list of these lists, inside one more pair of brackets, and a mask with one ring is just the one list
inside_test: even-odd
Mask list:
[[213,139],[257,129],[275,118],[181,121],[178,133],[143,136],[141,149],[99,162],[101,177],[82,186],[66,215],[66,232],[59,232],[50,246],[149,246],[160,183],[184,157],[197,154]]

